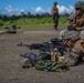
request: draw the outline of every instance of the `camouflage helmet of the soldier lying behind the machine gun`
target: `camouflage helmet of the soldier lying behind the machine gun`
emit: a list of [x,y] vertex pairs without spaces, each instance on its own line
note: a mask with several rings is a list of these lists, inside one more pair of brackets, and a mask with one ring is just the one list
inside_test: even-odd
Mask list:
[[64,37],[63,37],[64,40],[77,40],[80,39],[80,33],[76,32],[76,31],[66,31],[64,32]]

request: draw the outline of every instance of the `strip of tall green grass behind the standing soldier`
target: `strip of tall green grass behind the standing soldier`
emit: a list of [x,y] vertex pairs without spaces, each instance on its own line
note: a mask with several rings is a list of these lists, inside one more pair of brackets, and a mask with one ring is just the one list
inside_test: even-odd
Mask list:
[[[23,25],[23,27],[30,27],[30,25],[52,25],[53,20],[52,17],[39,17],[39,18],[20,18],[17,20],[8,20],[8,21],[2,21],[0,20],[0,23],[3,25],[11,25],[11,24],[17,24],[17,25]],[[59,25],[66,25],[67,23],[67,17],[60,17],[59,20]]]

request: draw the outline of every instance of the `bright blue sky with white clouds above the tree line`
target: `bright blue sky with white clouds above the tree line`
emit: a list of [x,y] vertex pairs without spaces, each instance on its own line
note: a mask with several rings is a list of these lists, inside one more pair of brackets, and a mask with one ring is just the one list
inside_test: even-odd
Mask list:
[[54,1],[57,1],[59,13],[63,14],[74,12],[74,4],[78,0],[0,0],[0,14],[51,13]]

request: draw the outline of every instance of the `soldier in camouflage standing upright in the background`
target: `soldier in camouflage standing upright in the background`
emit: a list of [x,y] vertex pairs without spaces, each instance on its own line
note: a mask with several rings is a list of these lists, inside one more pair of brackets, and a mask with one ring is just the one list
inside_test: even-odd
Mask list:
[[60,18],[60,15],[59,15],[59,10],[57,10],[57,8],[56,8],[56,4],[57,4],[57,2],[54,2],[54,3],[53,3],[53,7],[52,7],[52,9],[51,9],[51,13],[52,13],[52,17],[53,17],[53,28],[54,28],[55,30],[57,30],[59,18]]

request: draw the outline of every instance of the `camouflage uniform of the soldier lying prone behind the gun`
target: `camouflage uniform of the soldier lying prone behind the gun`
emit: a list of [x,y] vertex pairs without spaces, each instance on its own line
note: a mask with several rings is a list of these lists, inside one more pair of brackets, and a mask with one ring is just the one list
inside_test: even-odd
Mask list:
[[[72,34],[71,34],[72,35]],[[72,37],[71,37],[72,38]],[[80,40],[77,40],[70,52],[64,55],[65,63],[69,65],[76,65],[83,61],[84,58],[84,31],[80,34]]]

